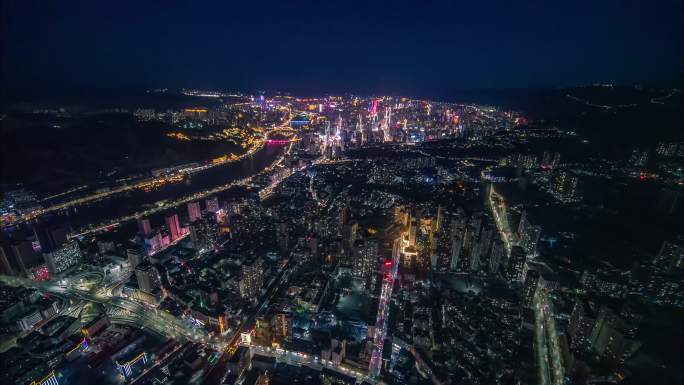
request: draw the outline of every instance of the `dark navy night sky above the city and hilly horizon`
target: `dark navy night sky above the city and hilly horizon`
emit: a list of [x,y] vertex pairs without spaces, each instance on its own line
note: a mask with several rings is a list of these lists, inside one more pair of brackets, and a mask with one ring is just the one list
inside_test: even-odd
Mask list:
[[5,96],[154,87],[429,93],[682,79],[678,0],[0,3]]

